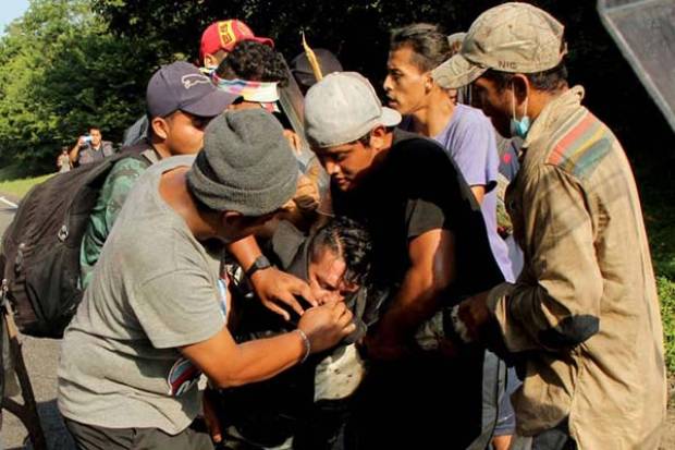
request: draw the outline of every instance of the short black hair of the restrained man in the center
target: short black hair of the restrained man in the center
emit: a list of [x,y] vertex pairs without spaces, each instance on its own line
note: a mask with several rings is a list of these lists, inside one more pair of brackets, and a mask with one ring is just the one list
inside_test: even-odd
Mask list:
[[344,259],[344,279],[355,284],[365,284],[370,272],[372,243],[370,233],[357,221],[338,216],[328,220],[314,234],[309,257],[317,260],[323,248],[329,248]]

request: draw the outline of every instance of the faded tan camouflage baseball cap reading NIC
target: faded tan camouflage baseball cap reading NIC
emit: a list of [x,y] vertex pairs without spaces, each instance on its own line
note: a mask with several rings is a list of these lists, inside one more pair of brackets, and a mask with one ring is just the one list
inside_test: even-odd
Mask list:
[[467,32],[462,50],[431,75],[444,88],[465,86],[488,69],[512,73],[542,72],[565,56],[564,26],[527,3],[504,3],[483,12]]

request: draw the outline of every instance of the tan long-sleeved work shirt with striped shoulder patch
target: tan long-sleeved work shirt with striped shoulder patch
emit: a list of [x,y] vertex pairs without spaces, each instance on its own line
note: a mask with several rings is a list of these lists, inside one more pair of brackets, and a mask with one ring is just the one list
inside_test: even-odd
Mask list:
[[582,97],[566,90],[528,133],[506,193],[525,267],[488,305],[525,361],[521,434],[567,417],[580,449],[656,449],[665,363],[640,202],[621,144]]

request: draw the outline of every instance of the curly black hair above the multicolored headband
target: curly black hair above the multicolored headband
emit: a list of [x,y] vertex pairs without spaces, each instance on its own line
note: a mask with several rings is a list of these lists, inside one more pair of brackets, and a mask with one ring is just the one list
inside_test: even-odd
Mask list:
[[270,46],[255,40],[237,42],[228,57],[220,62],[216,74],[229,80],[277,82],[282,87],[289,82],[289,71],[281,54]]

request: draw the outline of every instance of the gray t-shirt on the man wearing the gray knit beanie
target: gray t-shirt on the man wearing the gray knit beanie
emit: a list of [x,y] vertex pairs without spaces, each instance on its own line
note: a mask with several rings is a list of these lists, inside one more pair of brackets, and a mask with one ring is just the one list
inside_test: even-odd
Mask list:
[[224,326],[218,271],[159,194],[161,174],[193,160],[148,169],[120,212],[63,338],[59,410],[68,418],[174,435],[199,411],[199,370],[177,348]]

